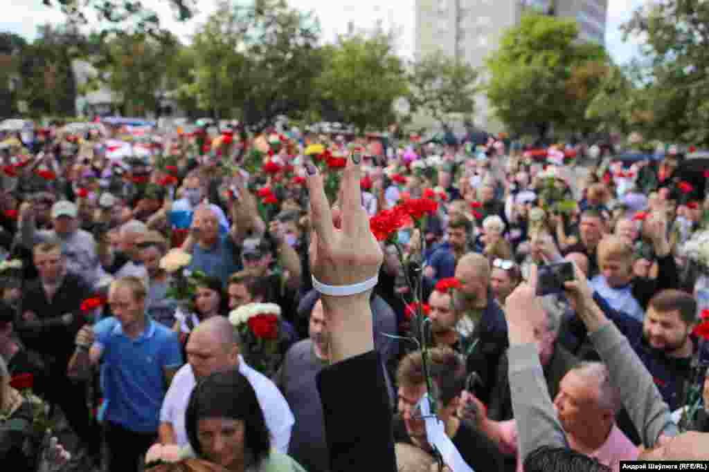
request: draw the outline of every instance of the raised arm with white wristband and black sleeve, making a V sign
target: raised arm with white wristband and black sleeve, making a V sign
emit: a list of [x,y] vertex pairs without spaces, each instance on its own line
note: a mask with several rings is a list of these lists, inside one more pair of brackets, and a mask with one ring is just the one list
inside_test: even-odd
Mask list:
[[[384,258],[359,190],[359,156],[347,161],[342,210],[330,209],[323,178],[306,164],[311,195],[311,270],[323,295],[333,364],[318,374],[330,470],[396,471],[391,407],[374,351],[369,296]],[[317,282],[316,282],[317,281]],[[367,284],[367,281],[370,281]]]

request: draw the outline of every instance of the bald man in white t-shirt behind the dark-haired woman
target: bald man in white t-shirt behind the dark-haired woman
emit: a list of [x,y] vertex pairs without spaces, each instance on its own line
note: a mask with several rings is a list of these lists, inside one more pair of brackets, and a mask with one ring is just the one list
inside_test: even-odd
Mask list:
[[175,374],[160,410],[162,444],[189,444],[184,413],[198,379],[213,372],[238,369],[256,391],[273,447],[286,454],[295,423],[291,408],[267,376],[244,362],[239,345],[238,332],[223,316],[209,318],[192,331],[186,347],[188,363]]

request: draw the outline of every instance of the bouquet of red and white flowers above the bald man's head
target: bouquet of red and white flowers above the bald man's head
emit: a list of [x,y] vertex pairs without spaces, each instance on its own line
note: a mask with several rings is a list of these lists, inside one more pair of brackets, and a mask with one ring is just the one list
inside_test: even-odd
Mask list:
[[286,341],[281,329],[281,307],[272,303],[251,303],[229,313],[229,322],[241,338],[241,354],[266,376],[273,376],[281,364],[281,347]]

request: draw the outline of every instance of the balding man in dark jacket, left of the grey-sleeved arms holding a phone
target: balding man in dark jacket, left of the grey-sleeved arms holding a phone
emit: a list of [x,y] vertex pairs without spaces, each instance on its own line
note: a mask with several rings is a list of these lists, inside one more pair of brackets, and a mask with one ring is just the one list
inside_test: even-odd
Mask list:
[[488,403],[500,357],[508,346],[505,315],[490,289],[490,264],[484,255],[468,253],[460,258],[455,277],[461,288],[454,292],[454,306],[462,312],[455,327],[462,338],[457,350],[467,359],[467,371],[481,379],[471,393]]

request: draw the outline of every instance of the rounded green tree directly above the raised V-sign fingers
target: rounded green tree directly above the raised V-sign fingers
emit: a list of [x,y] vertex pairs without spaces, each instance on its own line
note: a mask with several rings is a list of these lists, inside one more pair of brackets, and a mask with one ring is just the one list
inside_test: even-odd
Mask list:
[[396,120],[393,101],[408,96],[406,71],[391,35],[340,37],[325,50],[317,81],[320,107],[337,111],[342,121],[364,131],[383,129]]

